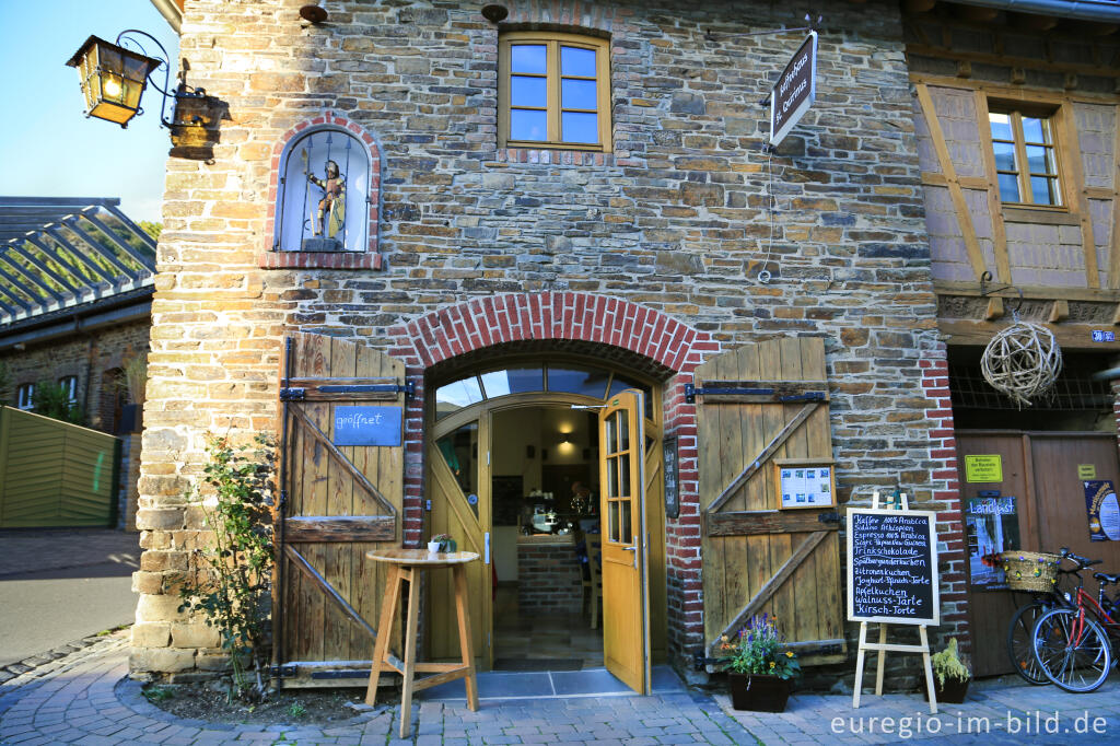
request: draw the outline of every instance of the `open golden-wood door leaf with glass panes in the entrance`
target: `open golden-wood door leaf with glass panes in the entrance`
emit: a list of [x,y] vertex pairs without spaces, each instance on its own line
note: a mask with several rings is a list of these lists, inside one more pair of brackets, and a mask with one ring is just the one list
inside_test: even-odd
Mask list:
[[603,658],[640,694],[650,693],[644,411],[642,392],[627,390],[599,413]]

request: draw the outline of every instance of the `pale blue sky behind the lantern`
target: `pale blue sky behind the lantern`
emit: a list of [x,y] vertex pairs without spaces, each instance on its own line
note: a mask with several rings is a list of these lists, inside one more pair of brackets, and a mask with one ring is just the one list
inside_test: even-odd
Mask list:
[[[133,220],[159,220],[171,147],[159,92],[148,86],[144,113],[122,130],[85,118],[77,72],[66,66],[91,34],[112,41],[128,28],[159,39],[174,85],[178,38],[149,0],[0,0],[0,195],[120,197]],[[157,80],[162,86],[162,71]]]

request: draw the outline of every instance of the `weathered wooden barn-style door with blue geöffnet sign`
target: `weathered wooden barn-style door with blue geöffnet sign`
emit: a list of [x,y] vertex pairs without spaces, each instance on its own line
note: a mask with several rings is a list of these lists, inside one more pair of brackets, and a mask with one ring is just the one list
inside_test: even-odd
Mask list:
[[273,675],[282,687],[365,686],[386,575],[365,553],[400,545],[403,447],[391,435],[392,445],[335,445],[354,440],[336,430],[355,414],[376,411],[338,408],[384,407],[394,420],[404,365],[315,334],[291,335],[284,356]]

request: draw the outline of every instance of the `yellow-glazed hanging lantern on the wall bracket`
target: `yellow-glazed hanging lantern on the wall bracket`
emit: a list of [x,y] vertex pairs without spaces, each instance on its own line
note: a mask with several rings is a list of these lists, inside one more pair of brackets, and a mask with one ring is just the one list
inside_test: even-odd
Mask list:
[[85,115],[124,128],[140,113],[148,75],[162,62],[91,36],[66,64],[77,68]]

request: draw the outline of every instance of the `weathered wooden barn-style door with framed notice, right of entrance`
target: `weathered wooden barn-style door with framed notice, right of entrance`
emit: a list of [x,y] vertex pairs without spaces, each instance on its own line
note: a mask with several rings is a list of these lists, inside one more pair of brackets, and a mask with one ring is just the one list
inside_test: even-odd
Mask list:
[[803,663],[844,659],[838,506],[781,510],[774,459],[832,458],[824,342],[746,345],[693,374],[704,636],[777,615]]

